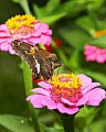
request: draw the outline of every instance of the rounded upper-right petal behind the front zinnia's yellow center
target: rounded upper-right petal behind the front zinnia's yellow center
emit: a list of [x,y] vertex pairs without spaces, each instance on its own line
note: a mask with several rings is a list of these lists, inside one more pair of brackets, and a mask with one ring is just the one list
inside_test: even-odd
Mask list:
[[83,88],[87,87],[91,82],[92,79],[83,74],[78,75],[78,77],[82,79],[83,84]]

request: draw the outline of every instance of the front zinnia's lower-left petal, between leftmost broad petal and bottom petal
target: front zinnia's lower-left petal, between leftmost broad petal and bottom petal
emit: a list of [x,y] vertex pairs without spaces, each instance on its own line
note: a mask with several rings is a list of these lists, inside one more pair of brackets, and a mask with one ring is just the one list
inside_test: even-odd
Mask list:
[[50,110],[56,109],[56,103],[51,98],[43,99],[42,105],[46,106]]

